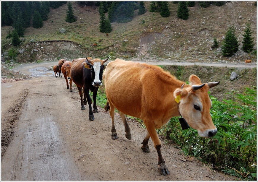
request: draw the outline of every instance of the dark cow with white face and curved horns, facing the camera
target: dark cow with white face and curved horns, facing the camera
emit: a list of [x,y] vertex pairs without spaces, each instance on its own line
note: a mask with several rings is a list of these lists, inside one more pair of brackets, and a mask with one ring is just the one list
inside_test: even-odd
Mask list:
[[[81,110],[85,109],[85,105],[88,100],[90,107],[89,120],[94,120],[93,113],[98,113],[96,98],[98,87],[102,85],[102,73],[105,69],[103,65],[109,57],[105,60],[92,59],[91,57],[74,59],[71,66],[71,77],[75,85],[79,90],[79,95],[81,97]],[[91,108],[92,100],[90,98],[90,93],[93,92],[93,111]],[[82,101],[82,92],[84,93],[84,98]],[[87,100],[86,100],[87,97]]]

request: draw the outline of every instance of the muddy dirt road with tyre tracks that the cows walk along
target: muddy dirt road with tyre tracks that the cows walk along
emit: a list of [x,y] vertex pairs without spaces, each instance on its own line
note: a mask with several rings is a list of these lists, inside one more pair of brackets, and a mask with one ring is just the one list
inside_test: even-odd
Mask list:
[[57,62],[14,68],[31,79],[1,83],[1,181],[238,181],[186,157],[163,139],[161,152],[170,175],[158,173],[157,152],[141,150],[146,129],[128,118],[132,139],[125,138],[115,114],[118,139],[111,138],[109,112],[80,110],[76,87],[49,68]]

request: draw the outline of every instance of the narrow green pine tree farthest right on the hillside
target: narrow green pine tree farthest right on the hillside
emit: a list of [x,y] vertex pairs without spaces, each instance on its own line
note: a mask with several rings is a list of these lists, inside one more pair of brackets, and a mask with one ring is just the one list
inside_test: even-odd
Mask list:
[[244,30],[245,34],[243,34],[243,46],[242,49],[246,53],[250,53],[253,50],[254,44],[253,44],[253,39],[252,32],[251,32],[251,25],[249,23],[246,24],[246,29]]

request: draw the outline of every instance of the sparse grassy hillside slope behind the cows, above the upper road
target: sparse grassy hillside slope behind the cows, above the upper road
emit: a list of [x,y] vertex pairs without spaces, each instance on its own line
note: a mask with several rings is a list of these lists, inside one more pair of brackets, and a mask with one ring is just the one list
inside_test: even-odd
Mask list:
[[[145,1],[147,9],[145,14],[138,15],[136,10],[133,21],[112,23],[113,31],[107,37],[105,33],[99,32],[98,7],[80,7],[78,2],[73,1],[76,22],[65,21],[66,4],[58,9],[51,9],[49,19],[43,22],[42,28],[26,28],[25,40],[20,47],[30,44],[31,39],[34,42],[69,40],[80,45],[83,53],[90,52],[99,57],[111,55],[113,58],[125,59],[206,62],[243,62],[251,58],[256,62],[256,55],[244,53],[241,49],[243,30],[247,22],[251,24],[255,45],[257,43],[257,6],[254,6],[254,2],[229,1],[223,6],[212,4],[202,8],[196,1],[194,7],[189,7],[189,18],[182,20],[176,16],[178,4],[170,1],[168,5],[171,15],[163,18],[158,12],[149,12],[150,1]],[[240,15],[242,18],[239,18]],[[222,37],[225,36],[229,26],[235,27],[239,51],[234,56],[226,58],[222,56],[221,48],[210,50],[210,47],[213,45],[214,38],[218,40],[219,46],[222,45]],[[65,28],[67,32],[59,33],[61,28]],[[6,40],[5,37],[12,29],[11,26],[1,27],[2,52],[10,47],[10,40]],[[102,42],[99,43],[99,40]],[[123,40],[128,42],[125,43]],[[98,43],[98,47],[90,47],[92,43]],[[256,48],[255,46],[255,50]]]

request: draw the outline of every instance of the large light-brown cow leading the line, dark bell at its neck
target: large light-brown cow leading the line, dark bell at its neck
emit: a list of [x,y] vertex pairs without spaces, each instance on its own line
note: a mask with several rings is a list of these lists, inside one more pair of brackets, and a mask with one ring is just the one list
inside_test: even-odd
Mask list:
[[142,119],[147,135],[141,149],[149,152],[148,141],[151,137],[158,153],[158,170],[162,175],[169,174],[169,171],[161,155],[161,142],[155,128],[181,115],[185,118],[184,124],[189,123],[197,129],[201,137],[212,137],[217,132],[209,112],[211,100],[208,90],[219,82],[202,84],[199,77],[191,75],[190,85],[187,85],[158,66],[121,59],[107,64],[103,79],[107,97],[105,110],[110,110],[112,120],[112,139],[118,138],[114,126],[115,108],[120,113],[125,125],[125,137],[129,140],[131,133],[126,115]]

